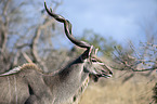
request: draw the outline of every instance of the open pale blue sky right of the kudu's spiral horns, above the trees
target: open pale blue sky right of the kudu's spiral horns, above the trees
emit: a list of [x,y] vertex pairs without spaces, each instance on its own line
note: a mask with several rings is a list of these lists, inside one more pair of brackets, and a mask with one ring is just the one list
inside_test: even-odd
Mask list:
[[93,29],[126,43],[143,39],[140,24],[157,16],[157,0],[64,0],[57,13],[71,22],[76,37]]

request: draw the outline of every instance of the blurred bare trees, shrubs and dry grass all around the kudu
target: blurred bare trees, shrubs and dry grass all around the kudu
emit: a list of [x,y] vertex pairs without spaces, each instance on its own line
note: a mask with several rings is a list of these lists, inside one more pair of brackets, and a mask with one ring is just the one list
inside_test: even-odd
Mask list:
[[[0,1],[0,73],[27,62],[37,63],[44,72],[54,72],[83,51],[66,42],[63,26],[49,17],[43,2],[30,1]],[[52,2],[54,12],[63,3]],[[113,67],[114,77],[91,82],[81,104],[157,102],[156,25],[144,25],[144,31],[147,40],[140,47],[130,42],[123,48],[112,37],[106,39],[84,28],[78,38],[100,49],[99,56]]]

